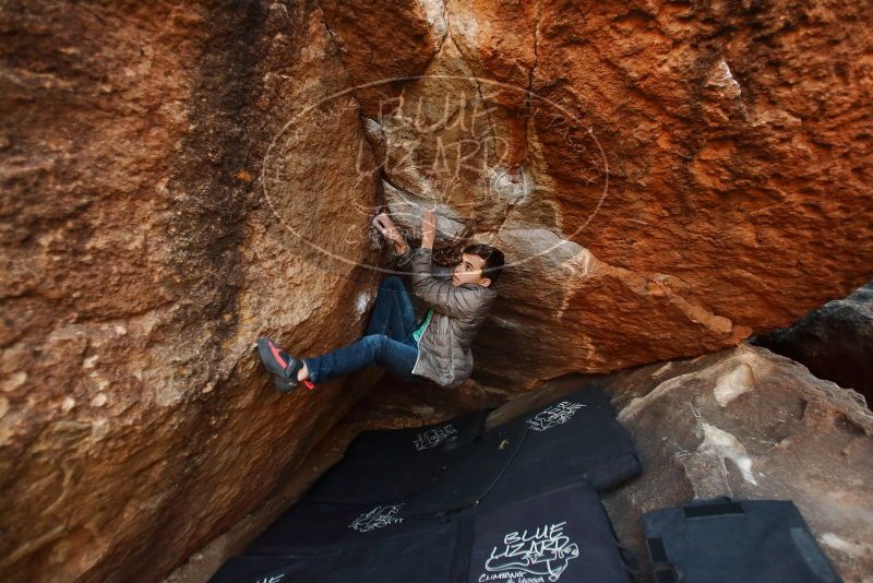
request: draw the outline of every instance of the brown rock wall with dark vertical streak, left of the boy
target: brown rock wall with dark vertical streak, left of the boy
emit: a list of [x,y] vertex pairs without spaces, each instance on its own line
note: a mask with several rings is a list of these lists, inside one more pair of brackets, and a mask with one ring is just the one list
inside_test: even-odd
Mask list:
[[250,347],[265,334],[318,352],[362,331],[374,274],[316,263],[280,222],[315,209],[319,236],[356,231],[328,250],[373,261],[367,218],[347,215],[375,195],[356,179],[357,110],[298,124],[310,155],[280,142],[265,190],[283,124],[348,85],[318,5],[0,10],[0,108],[14,111],[0,134],[0,579],[155,580],[354,402],[339,382],[279,397]]

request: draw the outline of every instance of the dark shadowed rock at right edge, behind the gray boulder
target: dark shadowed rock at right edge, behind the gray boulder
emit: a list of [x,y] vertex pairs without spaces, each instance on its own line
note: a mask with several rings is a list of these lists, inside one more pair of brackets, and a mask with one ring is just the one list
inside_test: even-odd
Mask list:
[[813,374],[850,386],[873,404],[873,283],[828,301],[754,344],[803,364]]

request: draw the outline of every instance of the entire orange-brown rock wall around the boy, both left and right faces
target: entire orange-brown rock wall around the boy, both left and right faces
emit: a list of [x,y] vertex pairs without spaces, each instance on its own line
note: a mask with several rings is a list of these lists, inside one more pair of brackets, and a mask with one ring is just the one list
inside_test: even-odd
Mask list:
[[[358,396],[385,204],[510,262],[492,394],[738,343],[871,275],[871,7],[0,9],[0,573],[159,578]],[[469,396],[469,395],[468,395]]]

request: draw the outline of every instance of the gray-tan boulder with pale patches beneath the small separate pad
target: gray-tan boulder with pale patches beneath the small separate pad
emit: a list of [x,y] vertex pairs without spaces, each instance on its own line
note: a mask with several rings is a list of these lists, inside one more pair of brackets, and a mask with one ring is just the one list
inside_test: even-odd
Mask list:
[[605,497],[645,557],[639,517],[692,498],[793,500],[846,581],[872,581],[873,415],[856,392],[746,344],[599,378],[644,473]]

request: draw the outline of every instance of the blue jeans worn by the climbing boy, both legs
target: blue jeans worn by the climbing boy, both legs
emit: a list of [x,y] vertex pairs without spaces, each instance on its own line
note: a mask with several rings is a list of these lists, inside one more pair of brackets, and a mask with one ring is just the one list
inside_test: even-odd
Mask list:
[[418,358],[418,343],[412,337],[416,328],[416,312],[403,279],[385,277],[376,291],[367,335],[343,348],[303,358],[309,380],[318,384],[369,365],[411,380]]

